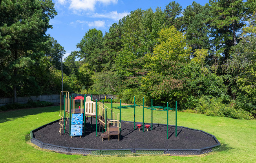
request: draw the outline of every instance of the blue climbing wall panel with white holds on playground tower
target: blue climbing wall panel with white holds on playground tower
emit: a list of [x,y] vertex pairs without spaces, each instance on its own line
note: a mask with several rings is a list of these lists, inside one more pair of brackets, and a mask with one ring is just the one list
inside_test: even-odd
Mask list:
[[72,114],[70,136],[81,136],[83,128],[83,114]]

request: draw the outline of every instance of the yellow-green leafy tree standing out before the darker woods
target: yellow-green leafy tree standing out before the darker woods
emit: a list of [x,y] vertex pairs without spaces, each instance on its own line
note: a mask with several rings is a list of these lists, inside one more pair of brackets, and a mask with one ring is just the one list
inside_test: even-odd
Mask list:
[[141,88],[159,103],[174,99],[181,102],[187,91],[183,67],[190,60],[191,48],[174,26],[161,29],[157,42],[153,53],[145,56],[148,73],[142,78]]

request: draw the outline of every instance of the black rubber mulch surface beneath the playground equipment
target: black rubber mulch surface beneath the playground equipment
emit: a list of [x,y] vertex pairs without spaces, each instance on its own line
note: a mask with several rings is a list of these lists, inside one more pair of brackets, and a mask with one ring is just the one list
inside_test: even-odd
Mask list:
[[[51,125],[34,132],[36,139],[53,145],[64,147],[84,148],[84,149],[201,149],[217,145],[214,138],[200,131],[184,129],[177,127],[177,137],[175,136],[175,127],[169,127],[169,139],[166,135],[166,126],[153,125],[153,130],[147,131],[136,128],[133,130],[133,123],[121,124],[121,136],[118,141],[118,136],[110,136],[110,141],[104,139],[102,141],[99,136],[102,133],[98,132],[96,137],[95,119],[93,118],[93,127],[91,128],[90,117],[86,123],[86,133],[82,138],[69,136],[69,125],[66,128],[66,134],[62,130],[62,135],[59,132],[59,123],[55,122]],[[151,126],[151,125],[150,125]],[[99,127],[98,127],[99,130]]]

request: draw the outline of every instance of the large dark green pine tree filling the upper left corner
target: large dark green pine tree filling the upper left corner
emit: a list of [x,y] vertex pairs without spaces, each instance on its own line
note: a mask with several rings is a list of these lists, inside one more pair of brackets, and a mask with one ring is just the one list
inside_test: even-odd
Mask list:
[[51,0],[0,1],[0,89],[13,89],[14,102],[27,80],[21,71],[44,55],[49,20],[57,15],[53,7]]

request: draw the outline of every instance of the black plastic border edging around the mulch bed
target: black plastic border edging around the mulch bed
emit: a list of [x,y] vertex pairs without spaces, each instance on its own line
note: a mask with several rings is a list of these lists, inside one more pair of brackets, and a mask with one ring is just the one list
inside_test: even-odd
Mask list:
[[[64,152],[64,153],[70,153],[70,154],[92,154],[92,155],[120,155],[120,154],[175,154],[175,155],[198,155],[198,154],[205,154],[208,152],[212,152],[214,150],[217,150],[221,147],[221,144],[219,143],[218,139],[212,134],[209,134],[203,130],[197,130],[197,129],[191,129],[188,127],[183,127],[183,126],[177,126],[181,127],[183,129],[188,129],[188,130],[194,130],[198,132],[203,132],[204,134],[214,138],[216,141],[217,145],[213,145],[210,147],[205,147],[202,149],[84,149],[84,148],[72,148],[72,147],[62,147],[58,145],[52,145],[48,143],[43,143],[42,141],[36,139],[34,137],[33,132],[42,129],[43,127],[46,127],[47,125],[51,125],[59,120],[52,121],[48,124],[42,125],[41,127],[38,127],[37,129],[31,130],[30,131],[30,141],[31,143],[37,145],[38,147],[42,149],[49,149],[49,150],[54,150],[57,152]],[[124,123],[134,123],[133,121],[121,121]],[[142,122],[135,122],[135,123],[142,123]],[[151,124],[151,123],[145,123],[145,124]],[[167,126],[166,124],[161,124],[161,123],[153,123],[154,125],[164,125]],[[169,125],[170,127],[175,127],[175,125]]]

